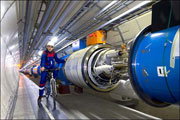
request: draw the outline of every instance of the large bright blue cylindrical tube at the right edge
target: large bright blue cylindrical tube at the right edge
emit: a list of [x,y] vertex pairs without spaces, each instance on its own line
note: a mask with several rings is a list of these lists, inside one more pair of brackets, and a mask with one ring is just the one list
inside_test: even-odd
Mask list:
[[131,46],[131,83],[139,97],[150,105],[180,104],[179,28],[178,25],[151,33],[149,26]]

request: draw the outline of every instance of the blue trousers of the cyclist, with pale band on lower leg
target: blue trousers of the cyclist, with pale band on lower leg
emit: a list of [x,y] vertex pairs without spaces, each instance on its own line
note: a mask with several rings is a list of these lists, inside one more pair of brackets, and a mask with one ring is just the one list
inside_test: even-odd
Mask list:
[[[40,85],[39,85],[39,87],[40,87],[40,89],[39,89],[39,96],[43,96],[44,88],[45,88],[46,81],[47,81],[47,79],[46,79],[47,73],[48,73],[47,71],[41,72],[41,80],[40,80]],[[53,71],[53,78],[54,79],[56,79],[57,74],[58,74],[57,70]],[[48,85],[48,88],[49,88],[49,86],[50,86],[50,84]]]

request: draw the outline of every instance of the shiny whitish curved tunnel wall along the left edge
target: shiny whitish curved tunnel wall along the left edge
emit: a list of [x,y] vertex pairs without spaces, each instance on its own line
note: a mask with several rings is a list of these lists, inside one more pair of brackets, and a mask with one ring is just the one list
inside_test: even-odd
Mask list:
[[16,4],[1,1],[1,119],[11,118],[19,84]]

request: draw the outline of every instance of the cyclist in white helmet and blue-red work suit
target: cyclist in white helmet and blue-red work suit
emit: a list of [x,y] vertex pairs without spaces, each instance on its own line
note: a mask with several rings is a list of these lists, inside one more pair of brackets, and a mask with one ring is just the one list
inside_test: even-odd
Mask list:
[[[47,76],[47,71],[44,71],[45,69],[55,69],[57,67],[55,61],[59,63],[65,62],[65,60],[58,58],[57,53],[54,52],[54,42],[49,41],[46,45],[46,50],[43,52],[41,56],[41,80],[40,80],[40,89],[39,89],[39,97],[38,97],[38,102],[41,102],[43,93],[44,93],[44,88],[46,84],[46,76]],[[56,79],[58,71],[54,70],[53,71],[53,77]]]

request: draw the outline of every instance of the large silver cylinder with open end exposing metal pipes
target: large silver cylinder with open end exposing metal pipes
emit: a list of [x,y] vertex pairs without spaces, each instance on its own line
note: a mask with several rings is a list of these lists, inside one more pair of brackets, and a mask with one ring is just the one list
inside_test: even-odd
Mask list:
[[107,55],[112,52],[117,53],[111,46],[103,44],[74,52],[65,63],[67,79],[79,87],[90,87],[102,92],[113,90],[118,85],[121,74],[127,72],[127,66],[123,62],[111,64]]

